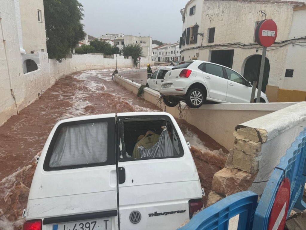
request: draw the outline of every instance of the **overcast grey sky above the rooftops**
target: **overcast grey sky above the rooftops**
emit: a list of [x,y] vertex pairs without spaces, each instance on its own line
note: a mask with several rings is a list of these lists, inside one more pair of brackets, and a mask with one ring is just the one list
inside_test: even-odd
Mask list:
[[188,0],[79,0],[84,6],[84,30],[91,36],[105,33],[151,36],[174,43],[182,34],[180,10]]

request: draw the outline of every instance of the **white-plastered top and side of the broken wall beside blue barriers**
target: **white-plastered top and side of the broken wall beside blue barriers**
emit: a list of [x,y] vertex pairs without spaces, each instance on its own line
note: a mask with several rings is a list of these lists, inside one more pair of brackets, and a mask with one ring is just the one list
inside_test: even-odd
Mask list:
[[[286,150],[306,127],[306,102],[245,122],[241,126],[263,130],[266,133],[267,140],[263,140],[261,151],[256,156],[259,166],[254,182],[267,181]],[[253,183],[249,190],[262,194],[266,184]]]

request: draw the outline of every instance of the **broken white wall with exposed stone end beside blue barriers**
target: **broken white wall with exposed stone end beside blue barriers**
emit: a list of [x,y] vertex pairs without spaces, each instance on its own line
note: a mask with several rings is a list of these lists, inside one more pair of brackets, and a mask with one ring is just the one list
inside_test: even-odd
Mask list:
[[306,102],[237,125],[225,168],[214,175],[208,205],[243,190],[261,195],[279,160],[304,127]]

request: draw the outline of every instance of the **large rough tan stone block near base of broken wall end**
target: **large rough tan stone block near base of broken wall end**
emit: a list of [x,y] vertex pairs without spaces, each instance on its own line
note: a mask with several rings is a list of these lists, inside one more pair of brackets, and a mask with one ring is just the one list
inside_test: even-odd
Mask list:
[[230,196],[234,193],[248,190],[257,173],[250,174],[238,169],[223,168],[215,173],[212,191],[220,196]]

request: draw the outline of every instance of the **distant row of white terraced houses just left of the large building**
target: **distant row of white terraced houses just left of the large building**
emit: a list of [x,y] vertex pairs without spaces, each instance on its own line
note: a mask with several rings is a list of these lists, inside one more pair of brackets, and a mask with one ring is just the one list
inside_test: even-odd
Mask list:
[[153,48],[153,61],[175,62],[180,61],[181,49],[179,43],[164,44]]

